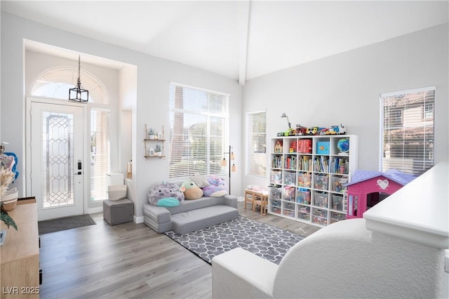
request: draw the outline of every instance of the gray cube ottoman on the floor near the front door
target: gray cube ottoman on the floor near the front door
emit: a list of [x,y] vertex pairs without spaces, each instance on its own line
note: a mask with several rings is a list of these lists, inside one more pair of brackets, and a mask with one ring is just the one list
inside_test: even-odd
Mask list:
[[133,221],[134,204],[129,199],[103,201],[103,219],[109,225]]

